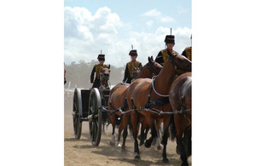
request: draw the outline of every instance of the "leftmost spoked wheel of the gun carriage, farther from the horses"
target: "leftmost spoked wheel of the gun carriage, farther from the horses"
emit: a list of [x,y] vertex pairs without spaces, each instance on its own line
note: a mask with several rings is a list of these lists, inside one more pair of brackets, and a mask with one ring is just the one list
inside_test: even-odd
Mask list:
[[80,139],[82,131],[79,112],[82,112],[81,91],[80,89],[75,89],[73,94],[73,134],[77,140]]

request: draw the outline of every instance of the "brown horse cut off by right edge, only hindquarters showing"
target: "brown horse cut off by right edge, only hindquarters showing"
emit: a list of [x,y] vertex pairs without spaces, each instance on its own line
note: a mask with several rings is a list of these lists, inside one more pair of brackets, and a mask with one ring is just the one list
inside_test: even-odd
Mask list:
[[177,153],[183,165],[188,165],[187,157],[191,155],[191,86],[191,72],[187,72],[177,77],[169,93],[172,110],[181,111],[173,115],[172,135],[176,136]]

